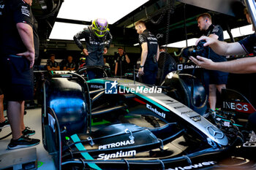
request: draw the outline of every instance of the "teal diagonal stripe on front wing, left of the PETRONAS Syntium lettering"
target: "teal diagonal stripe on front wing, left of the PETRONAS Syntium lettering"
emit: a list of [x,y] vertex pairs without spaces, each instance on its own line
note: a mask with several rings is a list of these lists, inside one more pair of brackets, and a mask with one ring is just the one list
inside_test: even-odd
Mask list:
[[[71,139],[73,140],[73,142],[80,142],[80,139],[78,137],[77,134],[74,134],[71,136]],[[86,150],[85,147],[83,147],[83,144],[78,143],[75,144],[75,147],[78,148],[78,150]],[[83,156],[83,158],[85,158],[86,160],[94,160],[94,158],[91,157],[91,155],[89,155],[88,152],[81,152],[81,155]],[[88,163],[89,166],[91,166],[91,168],[93,169],[98,169],[98,170],[102,170],[101,168],[99,168],[99,166],[97,166],[95,163]]]

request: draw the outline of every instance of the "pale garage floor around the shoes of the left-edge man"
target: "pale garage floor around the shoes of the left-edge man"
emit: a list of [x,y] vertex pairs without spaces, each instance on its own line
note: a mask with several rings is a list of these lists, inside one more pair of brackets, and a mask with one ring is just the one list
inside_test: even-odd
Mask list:
[[[34,146],[37,148],[37,161],[38,161],[38,169],[48,169],[48,170],[54,170],[54,164],[51,156],[48,154],[48,152],[45,150],[45,148],[42,146],[42,128],[41,128],[41,108],[37,109],[26,109],[27,114],[24,117],[25,125],[29,126],[29,128],[36,131],[36,134],[34,136],[31,136],[32,138],[40,139],[41,142],[37,146]],[[4,115],[6,115],[6,111],[4,111]],[[10,127],[2,129],[0,132],[0,138],[3,136],[6,136],[7,134],[10,134],[11,130]],[[6,139],[2,139],[0,141],[0,155],[7,153],[7,152],[17,152],[18,150],[27,150],[28,148],[22,148],[18,150],[8,150],[7,145],[10,142],[10,139],[12,136],[8,136]],[[1,163],[1,162],[0,162]]]

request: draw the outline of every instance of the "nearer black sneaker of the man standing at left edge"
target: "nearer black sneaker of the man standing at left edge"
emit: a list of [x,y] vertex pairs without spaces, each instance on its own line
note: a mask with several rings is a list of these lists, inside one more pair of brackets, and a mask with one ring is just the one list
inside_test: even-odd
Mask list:
[[13,140],[11,139],[10,144],[8,144],[9,150],[15,150],[22,147],[32,147],[40,143],[39,139],[32,139],[28,136],[20,136],[19,139]]

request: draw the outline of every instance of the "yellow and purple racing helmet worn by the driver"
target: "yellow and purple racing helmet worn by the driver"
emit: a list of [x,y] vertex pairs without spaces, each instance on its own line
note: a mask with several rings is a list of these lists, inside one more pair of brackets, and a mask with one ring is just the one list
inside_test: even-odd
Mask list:
[[105,36],[106,32],[109,31],[108,21],[102,18],[94,20],[92,22],[92,30],[98,37]]

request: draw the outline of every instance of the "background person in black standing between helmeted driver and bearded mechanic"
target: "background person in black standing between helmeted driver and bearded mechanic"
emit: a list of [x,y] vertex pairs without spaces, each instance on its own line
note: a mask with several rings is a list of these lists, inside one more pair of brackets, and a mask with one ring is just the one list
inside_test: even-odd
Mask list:
[[124,76],[129,66],[129,57],[122,47],[118,47],[118,57],[116,59],[115,76]]

